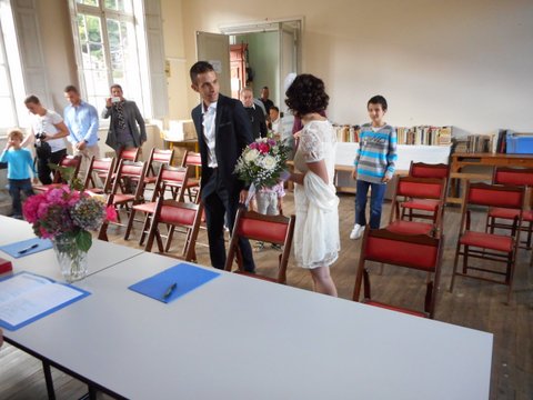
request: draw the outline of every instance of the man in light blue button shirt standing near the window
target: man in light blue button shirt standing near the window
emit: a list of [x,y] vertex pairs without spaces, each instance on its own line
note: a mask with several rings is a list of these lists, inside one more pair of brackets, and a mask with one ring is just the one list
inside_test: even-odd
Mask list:
[[98,111],[88,102],[81,100],[78,88],[69,84],[64,88],[64,98],[69,106],[64,108],[63,118],[70,134],[74,156],[81,156],[80,176],[84,177],[91,159],[100,158],[98,147]]

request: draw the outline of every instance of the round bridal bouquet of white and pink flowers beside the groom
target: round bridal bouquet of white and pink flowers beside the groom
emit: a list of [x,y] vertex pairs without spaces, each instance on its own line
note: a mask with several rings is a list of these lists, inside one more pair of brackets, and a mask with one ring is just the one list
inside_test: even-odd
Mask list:
[[269,138],[255,139],[247,146],[237,161],[235,173],[247,184],[271,188],[286,169],[290,149],[282,141]]

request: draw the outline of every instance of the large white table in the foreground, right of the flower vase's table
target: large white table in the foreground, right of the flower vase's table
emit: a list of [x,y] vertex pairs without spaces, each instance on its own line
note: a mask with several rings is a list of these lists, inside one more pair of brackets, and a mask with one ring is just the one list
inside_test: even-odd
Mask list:
[[127,289],[178,262],[118,263],[6,336],[131,399],[489,397],[490,333],[227,272],[170,304]]

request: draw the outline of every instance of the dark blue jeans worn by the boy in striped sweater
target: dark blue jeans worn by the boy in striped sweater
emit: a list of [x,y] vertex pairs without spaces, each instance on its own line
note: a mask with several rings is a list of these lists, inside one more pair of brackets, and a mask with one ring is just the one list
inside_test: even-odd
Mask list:
[[361,227],[366,224],[366,196],[371,188],[370,194],[370,228],[379,229],[381,223],[381,209],[383,206],[383,197],[385,196],[386,183],[371,183],[363,180],[356,182],[355,193],[355,223]]

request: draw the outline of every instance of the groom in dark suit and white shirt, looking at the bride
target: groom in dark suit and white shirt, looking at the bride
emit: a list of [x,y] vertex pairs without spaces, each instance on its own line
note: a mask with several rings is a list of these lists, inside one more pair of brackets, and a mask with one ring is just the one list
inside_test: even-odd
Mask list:
[[[233,229],[239,202],[244,202],[248,188],[233,173],[242,150],[253,141],[252,127],[241,102],[219,93],[213,67],[198,61],[191,67],[191,88],[202,102],[192,110],[192,119],[202,156],[201,196],[208,223],[211,264],[225,264],[224,220]],[[253,272],[252,248],[248,240],[239,242],[245,271]]]

